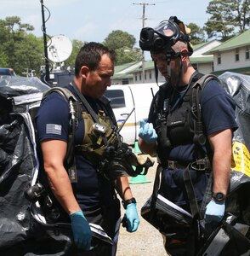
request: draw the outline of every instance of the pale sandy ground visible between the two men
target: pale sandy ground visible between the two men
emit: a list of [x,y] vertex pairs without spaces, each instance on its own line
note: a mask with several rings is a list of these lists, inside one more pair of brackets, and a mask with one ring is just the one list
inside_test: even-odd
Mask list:
[[[151,196],[155,173],[156,159],[155,165],[149,169],[146,176],[129,177],[130,187],[137,201],[140,223],[138,230],[134,233],[129,233],[121,226],[116,256],[168,255],[163,248],[162,235],[140,216],[140,208]],[[122,208],[122,216],[123,214]]]

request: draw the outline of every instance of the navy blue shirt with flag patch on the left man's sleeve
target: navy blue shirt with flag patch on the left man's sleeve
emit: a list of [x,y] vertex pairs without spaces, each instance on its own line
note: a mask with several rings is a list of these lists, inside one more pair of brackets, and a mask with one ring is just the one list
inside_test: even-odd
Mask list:
[[[67,86],[76,94],[71,85]],[[96,101],[86,97],[88,103],[98,111]],[[46,139],[61,140],[67,143],[69,131],[68,102],[57,92],[48,95],[38,110],[37,134],[39,142]],[[82,118],[75,134],[75,145],[82,144],[84,124]],[[77,202],[84,211],[94,211],[102,205],[109,205],[113,199],[113,184],[100,177],[94,166],[86,160],[81,153],[76,154],[77,183],[72,183]]]

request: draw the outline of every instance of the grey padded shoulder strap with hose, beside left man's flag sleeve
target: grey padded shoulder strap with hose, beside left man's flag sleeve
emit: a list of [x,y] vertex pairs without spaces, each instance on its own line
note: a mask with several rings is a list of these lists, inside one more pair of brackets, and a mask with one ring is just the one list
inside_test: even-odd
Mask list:
[[[68,175],[71,179],[71,183],[77,183],[77,168],[76,168],[76,160],[74,156],[74,135],[75,130],[78,125],[78,107],[76,106],[79,104],[77,97],[74,96],[74,94],[71,92],[71,90],[65,88],[65,87],[53,87],[43,93],[43,99],[51,94],[52,92],[57,92],[62,96],[63,99],[65,99],[65,102],[68,102],[70,113],[71,113],[71,119],[70,119],[70,130],[68,134],[68,146],[67,146],[67,152],[65,156],[65,165],[67,167]],[[74,102],[76,104],[74,105]]]

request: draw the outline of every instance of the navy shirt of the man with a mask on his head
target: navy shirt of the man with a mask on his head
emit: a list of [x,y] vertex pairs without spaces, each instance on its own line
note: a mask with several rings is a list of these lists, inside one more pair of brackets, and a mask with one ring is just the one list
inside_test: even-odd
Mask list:
[[[216,80],[207,83],[201,94],[202,123],[207,136],[216,131],[225,129],[236,130],[235,120],[236,104],[227,92],[219,86]],[[155,114],[153,113],[154,102],[151,104],[148,122],[156,126]],[[177,145],[169,148],[166,159],[179,162],[191,162],[196,160],[194,143]],[[190,171],[194,185],[197,201],[202,201],[206,186],[207,174],[203,172]],[[185,205],[185,183],[183,181],[183,170],[165,170],[162,173],[160,194],[178,205]]]

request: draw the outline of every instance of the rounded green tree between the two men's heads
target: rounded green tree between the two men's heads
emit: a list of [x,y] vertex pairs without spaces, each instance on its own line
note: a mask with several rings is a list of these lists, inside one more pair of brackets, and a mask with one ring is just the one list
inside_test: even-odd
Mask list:
[[128,32],[116,30],[111,32],[103,44],[116,51],[116,65],[141,60],[140,49],[134,49],[136,39]]

